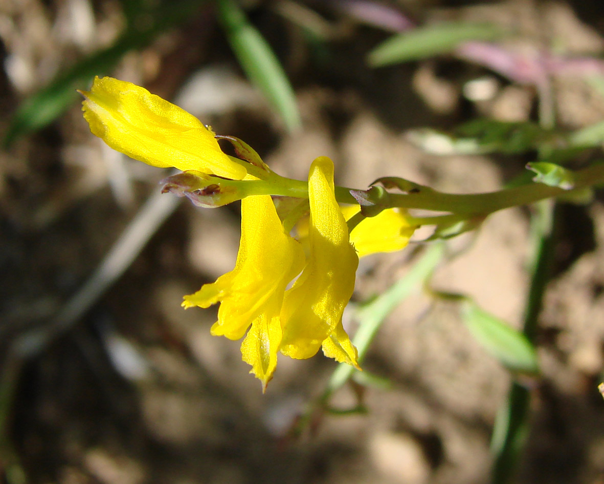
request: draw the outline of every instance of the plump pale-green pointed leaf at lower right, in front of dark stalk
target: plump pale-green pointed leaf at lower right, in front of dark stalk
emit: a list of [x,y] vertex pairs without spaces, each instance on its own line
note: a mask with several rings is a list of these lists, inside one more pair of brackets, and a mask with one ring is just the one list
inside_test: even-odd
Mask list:
[[487,313],[471,299],[463,303],[463,318],[472,336],[504,367],[515,373],[538,374],[535,347],[521,332]]

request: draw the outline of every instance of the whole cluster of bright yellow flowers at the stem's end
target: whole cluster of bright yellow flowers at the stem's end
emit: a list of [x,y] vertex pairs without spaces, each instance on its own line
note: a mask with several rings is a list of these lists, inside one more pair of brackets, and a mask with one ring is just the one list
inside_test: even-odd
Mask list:
[[[405,212],[388,209],[364,218],[349,234],[347,219],[360,208],[341,208],[327,157],[312,162],[307,184],[289,180],[240,140],[223,137],[233,143],[237,157],[226,155],[211,128],[137,85],[96,77],[91,91],[82,94],[93,134],[133,159],[183,171],[167,178],[164,191],[199,206],[242,200],[234,269],[184,296],[182,306],[220,302],[211,333],[245,336],[243,361],[263,390],[278,353],[303,359],[322,348],[326,356],[358,368],[342,312],[354,290],[359,257],[408,243],[414,227]],[[298,203],[278,213],[275,195]]]

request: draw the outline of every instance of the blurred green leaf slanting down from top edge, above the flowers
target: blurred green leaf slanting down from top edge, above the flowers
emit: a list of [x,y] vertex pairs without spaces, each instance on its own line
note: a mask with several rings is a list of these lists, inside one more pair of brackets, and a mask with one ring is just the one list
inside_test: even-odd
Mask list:
[[217,0],[226,37],[249,80],[265,94],[289,131],[302,122],[294,90],[271,46],[233,0]]

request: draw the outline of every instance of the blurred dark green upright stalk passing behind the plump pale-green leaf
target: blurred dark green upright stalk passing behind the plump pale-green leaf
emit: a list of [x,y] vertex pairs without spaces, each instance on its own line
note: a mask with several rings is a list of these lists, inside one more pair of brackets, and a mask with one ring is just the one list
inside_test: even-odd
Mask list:
[[[535,253],[522,328],[522,332],[531,342],[535,339],[537,319],[550,275],[553,255],[554,207],[553,203],[542,201],[536,205],[537,212],[532,220]],[[507,402],[500,409],[493,428],[491,440],[491,450],[495,457],[491,474],[493,484],[508,483],[515,473],[518,457],[528,433],[529,403],[528,388],[517,381],[513,382]]]

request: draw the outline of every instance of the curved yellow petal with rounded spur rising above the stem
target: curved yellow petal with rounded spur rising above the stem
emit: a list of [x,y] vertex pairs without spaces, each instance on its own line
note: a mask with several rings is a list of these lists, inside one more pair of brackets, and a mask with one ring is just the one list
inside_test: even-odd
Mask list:
[[309,261],[285,293],[281,310],[281,353],[292,358],[315,355],[335,332],[352,296],[358,266],[333,193],[333,163],[329,158],[319,157],[310,166],[309,204]]

